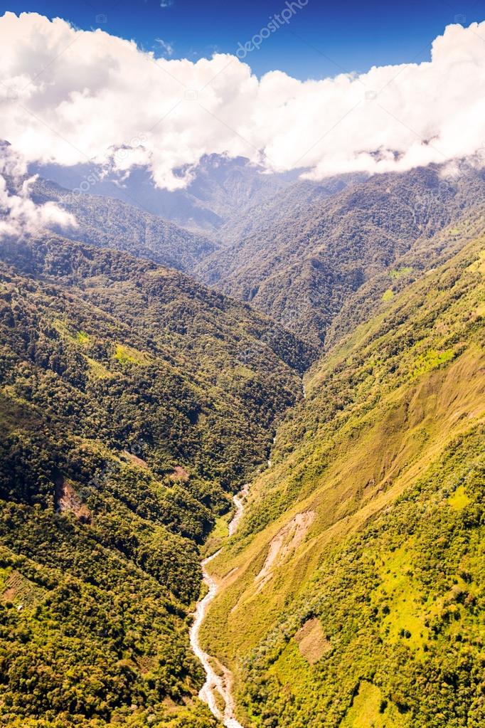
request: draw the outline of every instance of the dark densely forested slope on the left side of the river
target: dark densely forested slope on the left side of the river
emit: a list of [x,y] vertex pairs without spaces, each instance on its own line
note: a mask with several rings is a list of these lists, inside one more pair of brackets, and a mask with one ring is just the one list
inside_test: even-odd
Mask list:
[[53,234],[0,257],[2,720],[214,726],[188,643],[199,545],[308,352],[150,261]]

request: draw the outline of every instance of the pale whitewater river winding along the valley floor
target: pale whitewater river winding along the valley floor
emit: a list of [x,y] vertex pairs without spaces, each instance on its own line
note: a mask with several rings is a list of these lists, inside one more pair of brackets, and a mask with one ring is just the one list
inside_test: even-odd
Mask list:
[[[239,521],[241,521],[244,513],[244,499],[246,498],[247,491],[248,486],[246,485],[238,495],[234,496],[233,500],[234,505],[236,506],[236,513],[233,515],[231,523],[229,523],[229,536],[233,536],[239,526]],[[209,705],[210,710],[217,720],[223,721],[225,728],[244,728],[234,717],[235,705],[232,693],[233,676],[231,670],[228,670],[228,668],[226,668],[225,665],[222,665],[219,660],[216,660],[213,657],[211,658],[207,652],[204,652],[200,644],[202,622],[204,622],[209,605],[215,599],[218,592],[215,579],[213,579],[207,571],[207,564],[220,554],[221,550],[222,549],[202,561],[204,584],[207,585],[208,591],[206,596],[204,596],[204,599],[201,599],[196,606],[195,618],[190,633],[191,646],[193,652],[195,652],[196,656],[199,657],[206,673],[206,681],[199,692],[200,699],[204,700],[204,703]],[[212,667],[211,661],[217,665],[217,672]],[[217,694],[220,696],[219,698],[217,698]],[[223,711],[219,707],[221,699],[224,704]]]

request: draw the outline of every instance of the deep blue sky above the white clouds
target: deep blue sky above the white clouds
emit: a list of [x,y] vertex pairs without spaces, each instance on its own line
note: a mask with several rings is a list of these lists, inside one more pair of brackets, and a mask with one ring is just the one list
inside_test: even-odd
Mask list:
[[[9,1],[2,12],[63,17],[78,28],[100,27],[135,39],[145,50],[172,47],[172,58],[196,60],[236,52],[279,14],[286,0],[61,0]],[[162,7],[166,6],[166,7]],[[299,79],[321,79],[342,70],[427,60],[430,43],[449,23],[485,19],[485,1],[308,0],[287,25],[271,33],[246,62],[258,75],[279,69]]]

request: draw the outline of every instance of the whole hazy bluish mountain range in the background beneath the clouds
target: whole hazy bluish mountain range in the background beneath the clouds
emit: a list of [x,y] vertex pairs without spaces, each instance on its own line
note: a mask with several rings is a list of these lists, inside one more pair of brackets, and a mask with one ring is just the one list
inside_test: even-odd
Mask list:
[[318,349],[350,298],[369,290],[375,277],[388,274],[396,285],[398,277],[426,268],[427,241],[481,210],[485,181],[482,170],[468,165],[448,176],[444,167],[428,167],[314,183],[262,175],[242,159],[210,157],[183,195],[189,192],[217,210],[217,230],[209,236],[184,229],[191,221],[183,215],[175,225],[127,202],[68,195],[43,180],[35,199],[54,200],[73,213],[76,240],[187,272]]

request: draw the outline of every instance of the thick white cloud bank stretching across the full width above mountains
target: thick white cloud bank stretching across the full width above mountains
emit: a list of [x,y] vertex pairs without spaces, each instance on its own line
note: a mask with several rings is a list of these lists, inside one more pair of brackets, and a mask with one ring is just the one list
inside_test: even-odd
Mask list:
[[257,79],[231,55],[156,59],[33,13],[1,17],[0,44],[1,135],[29,162],[146,165],[157,185],[176,189],[204,154],[318,179],[407,170],[485,146],[485,22],[450,25],[428,63],[306,82],[281,71]]

